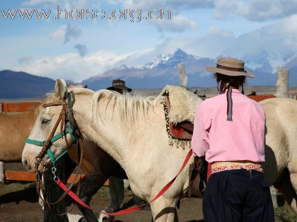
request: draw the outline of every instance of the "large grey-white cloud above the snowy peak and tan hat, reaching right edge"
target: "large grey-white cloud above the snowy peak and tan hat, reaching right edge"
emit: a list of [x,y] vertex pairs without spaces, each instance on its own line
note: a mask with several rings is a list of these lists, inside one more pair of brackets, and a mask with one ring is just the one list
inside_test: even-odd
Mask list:
[[249,68],[274,72],[297,56],[297,15],[238,37],[212,26],[204,37],[165,39],[151,53],[154,56],[173,53],[177,47],[201,57],[239,58],[246,61]]

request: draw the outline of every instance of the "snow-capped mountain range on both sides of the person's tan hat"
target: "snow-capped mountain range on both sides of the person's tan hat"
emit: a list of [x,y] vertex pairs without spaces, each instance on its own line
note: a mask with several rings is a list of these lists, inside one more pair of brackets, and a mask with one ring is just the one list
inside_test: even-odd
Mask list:
[[[274,67],[271,66],[271,61],[268,60],[270,57],[263,52],[258,58],[248,58],[248,56],[241,58],[246,61],[246,70],[256,75],[254,79],[248,78],[247,84],[275,85],[277,75],[273,72]],[[121,65],[115,67],[104,74],[84,80],[82,84],[88,84],[89,88],[97,90],[109,87],[113,79],[120,78],[125,80],[126,85],[131,88],[151,89],[162,88],[166,84],[178,85],[177,64],[184,63],[189,87],[213,87],[215,85],[213,75],[207,72],[204,66],[216,66],[216,61],[216,59],[188,54],[178,48],[173,54],[160,54],[153,61],[142,66]],[[288,64],[291,68],[296,67],[297,70],[297,59]],[[297,77],[292,72],[290,85],[297,85]]]

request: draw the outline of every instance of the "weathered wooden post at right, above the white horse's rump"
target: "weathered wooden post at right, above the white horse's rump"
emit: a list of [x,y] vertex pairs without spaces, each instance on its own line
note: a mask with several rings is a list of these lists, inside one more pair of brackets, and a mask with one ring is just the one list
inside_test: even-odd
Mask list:
[[289,98],[289,69],[279,67],[276,69],[277,81],[276,81],[276,97]]

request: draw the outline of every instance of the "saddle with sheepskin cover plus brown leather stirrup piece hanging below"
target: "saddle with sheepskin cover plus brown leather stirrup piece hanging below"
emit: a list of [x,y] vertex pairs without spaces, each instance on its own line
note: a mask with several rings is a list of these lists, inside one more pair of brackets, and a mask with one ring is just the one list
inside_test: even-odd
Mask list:
[[[164,112],[169,138],[191,141],[194,116],[203,100],[186,88],[173,85],[166,85],[161,95],[165,101]],[[201,178],[206,181],[206,167],[204,157],[194,157],[194,163],[190,164],[189,169],[188,197],[203,197],[204,185]]]

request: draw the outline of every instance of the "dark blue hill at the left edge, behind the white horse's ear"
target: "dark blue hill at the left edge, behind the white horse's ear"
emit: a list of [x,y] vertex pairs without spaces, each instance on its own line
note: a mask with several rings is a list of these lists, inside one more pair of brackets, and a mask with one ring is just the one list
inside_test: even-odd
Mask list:
[[42,96],[54,89],[55,81],[24,72],[0,71],[0,98],[18,99]]

